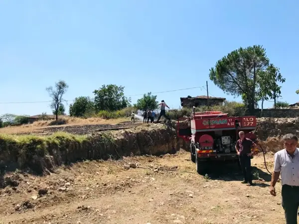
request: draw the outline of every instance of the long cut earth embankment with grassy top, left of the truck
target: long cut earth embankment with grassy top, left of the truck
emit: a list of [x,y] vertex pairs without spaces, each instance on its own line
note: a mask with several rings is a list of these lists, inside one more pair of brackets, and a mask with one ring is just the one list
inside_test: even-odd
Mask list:
[[29,168],[36,173],[54,172],[57,166],[83,159],[175,153],[180,145],[175,129],[165,124],[86,136],[60,133],[48,137],[0,136],[0,165],[8,170]]

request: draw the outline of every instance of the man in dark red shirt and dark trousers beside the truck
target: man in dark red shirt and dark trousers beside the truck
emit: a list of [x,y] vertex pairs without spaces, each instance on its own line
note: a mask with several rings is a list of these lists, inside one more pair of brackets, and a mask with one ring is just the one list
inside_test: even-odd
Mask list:
[[253,186],[252,183],[252,174],[251,174],[251,156],[253,152],[251,152],[252,147],[256,147],[256,144],[249,138],[245,138],[244,131],[239,132],[238,141],[236,142],[236,151],[239,156],[240,165],[242,169],[242,173],[244,176],[243,184],[247,186]]

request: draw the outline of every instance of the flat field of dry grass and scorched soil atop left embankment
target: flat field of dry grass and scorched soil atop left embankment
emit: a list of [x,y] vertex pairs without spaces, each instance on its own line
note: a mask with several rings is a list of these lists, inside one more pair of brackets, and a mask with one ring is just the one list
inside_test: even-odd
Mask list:
[[87,119],[70,120],[69,123],[63,125],[47,126],[48,122],[34,122],[33,124],[11,126],[0,128],[0,133],[6,134],[34,134],[34,135],[50,135],[57,131],[68,132],[71,134],[91,134],[102,130],[113,130],[122,128],[132,128],[143,124],[140,120],[135,123],[128,119],[93,119],[92,122],[86,122]]

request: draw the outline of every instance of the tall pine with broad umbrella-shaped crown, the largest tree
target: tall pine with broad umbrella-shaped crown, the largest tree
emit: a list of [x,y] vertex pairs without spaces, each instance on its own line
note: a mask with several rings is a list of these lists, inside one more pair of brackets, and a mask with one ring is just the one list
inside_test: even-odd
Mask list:
[[209,78],[226,94],[242,96],[250,113],[257,103],[258,74],[269,65],[266,50],[260,45],[239,48],[217,61]]

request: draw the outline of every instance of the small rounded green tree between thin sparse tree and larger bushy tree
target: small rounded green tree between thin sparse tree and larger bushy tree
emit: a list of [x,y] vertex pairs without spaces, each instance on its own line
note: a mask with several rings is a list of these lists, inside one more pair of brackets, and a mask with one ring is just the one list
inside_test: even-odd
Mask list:
[[75,98],[70,105],[70,116],[84,116],[94,112],[94,102],[90,97]]

